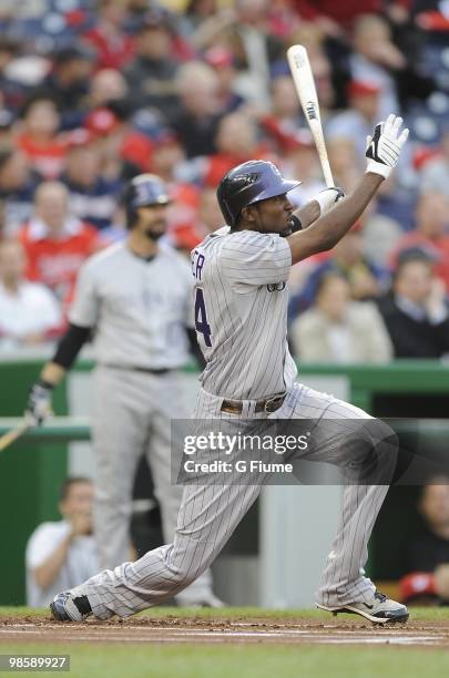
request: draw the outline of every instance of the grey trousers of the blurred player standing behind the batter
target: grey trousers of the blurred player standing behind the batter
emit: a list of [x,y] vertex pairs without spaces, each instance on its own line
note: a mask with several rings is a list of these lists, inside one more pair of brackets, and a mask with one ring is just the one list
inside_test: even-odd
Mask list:
[[[171,418],[174,411],[186,417],[191,408],[176,371],[156,376],[99,366],[93,377],[94,532],[100,567],[108,568],[130,558],[132,487],[142,454],[153,475],[164,538],[173,538],[183,489],[171,484]],[[207,571],[177,602],[188,605],[211,593]]]

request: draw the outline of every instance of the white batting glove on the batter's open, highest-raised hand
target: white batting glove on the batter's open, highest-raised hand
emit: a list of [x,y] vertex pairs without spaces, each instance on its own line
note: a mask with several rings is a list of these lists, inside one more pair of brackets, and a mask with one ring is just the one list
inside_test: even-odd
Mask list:
[[367,172],[380,174],[384,178],[389,177],[408,137],[407,129],[399,134],[402,122],[401,117],[391,114],[385,122],[376,125],[373,136],[367,137]]

